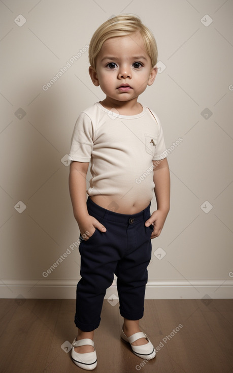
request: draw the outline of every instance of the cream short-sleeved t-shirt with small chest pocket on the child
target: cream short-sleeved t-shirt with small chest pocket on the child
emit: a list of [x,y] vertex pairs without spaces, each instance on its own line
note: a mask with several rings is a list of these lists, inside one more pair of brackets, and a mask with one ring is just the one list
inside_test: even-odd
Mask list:
[[127,201],[152,200],[153,163],[166,154],[157,115],[142,105],[137,115],[119,115],[99,102],[80,113],[69,160],[91,162],[87,194],[114,195]]

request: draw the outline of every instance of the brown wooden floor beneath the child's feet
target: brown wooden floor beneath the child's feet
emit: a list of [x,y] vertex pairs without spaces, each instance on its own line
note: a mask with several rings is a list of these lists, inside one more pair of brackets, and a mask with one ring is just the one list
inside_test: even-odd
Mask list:
[[[151,361],[120,340],[118,306],[104,301],[95,373],[233,371],[233,299],[145,300],[141,329],[157,350]],[[68,352],[77,332],[74,310],[73,299],[0,300],[0,372],[84,372]]]

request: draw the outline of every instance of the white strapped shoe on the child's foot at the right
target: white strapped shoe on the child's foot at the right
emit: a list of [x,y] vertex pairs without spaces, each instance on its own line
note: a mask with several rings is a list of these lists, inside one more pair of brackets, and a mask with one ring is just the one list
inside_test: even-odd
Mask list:
[[[126,337],[122,328],[120,336],[125,342],[128,342],[130,344],[132,352],[134,352],[135,355],[147,360],[151,360],[155,357],[156,351],[154,349],[154,346],[152,345],[148,336],[142,331],[132,334],[130,335],[130,337]],[[146,338],[148,340],[148,343],[146,345],[133,346],[132,343],[134,343],[139,338]]]

